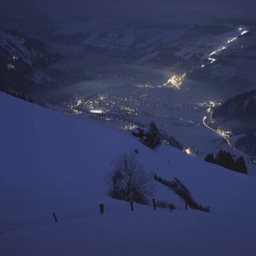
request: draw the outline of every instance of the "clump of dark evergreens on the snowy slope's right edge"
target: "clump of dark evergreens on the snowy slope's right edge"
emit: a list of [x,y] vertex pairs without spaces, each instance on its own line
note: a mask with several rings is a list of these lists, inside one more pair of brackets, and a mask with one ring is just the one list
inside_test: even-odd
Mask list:
[[237,159],[231,156],[230,152],[226,152],[224,150],[220,150],[216,157],[212,153],[207,154],[205,157],[205,161],[209,163],[218,164],[227,168],[229,170],[233,170],[235,172],[245,173],[247,174],[247,168],[244,161],[244,157],[240,156]]

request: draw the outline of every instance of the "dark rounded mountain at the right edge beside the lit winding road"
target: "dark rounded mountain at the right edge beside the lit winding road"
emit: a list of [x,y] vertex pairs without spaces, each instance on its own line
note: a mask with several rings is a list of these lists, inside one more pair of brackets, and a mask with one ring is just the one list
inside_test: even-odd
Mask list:
[[218,119],[234,134],[256,131],[256,90],[227,100],[214,110],[212,118]]

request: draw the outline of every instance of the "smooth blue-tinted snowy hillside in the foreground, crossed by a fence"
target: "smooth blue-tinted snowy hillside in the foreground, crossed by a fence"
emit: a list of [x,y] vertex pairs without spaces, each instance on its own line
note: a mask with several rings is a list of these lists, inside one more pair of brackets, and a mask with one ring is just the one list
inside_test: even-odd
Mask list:
[[[169,146],[151,150],[129,132],[4,93],[0,106],[1,255],[254,255],[255,177]],[[177,177],[211,212],[186,211],[179,196],[159,183],[154,198],[177,210],[135,204],[131,212],[129,203],[109,198],[104,176],[111,161],[134,149],[148,172]],[[106,212],[99,214],[102,203]],[[92,209],[84,218],[52,218],[52,225],[27,230],[5,224],[84,209]]]

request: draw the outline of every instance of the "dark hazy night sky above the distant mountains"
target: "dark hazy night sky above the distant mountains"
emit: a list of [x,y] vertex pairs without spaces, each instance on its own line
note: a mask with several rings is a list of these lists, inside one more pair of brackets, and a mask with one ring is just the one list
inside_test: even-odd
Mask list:
[[253,0],[12,0],[0,1],[1,20],[102,19],[202,22],[204,19],[250,19],[255,16]]

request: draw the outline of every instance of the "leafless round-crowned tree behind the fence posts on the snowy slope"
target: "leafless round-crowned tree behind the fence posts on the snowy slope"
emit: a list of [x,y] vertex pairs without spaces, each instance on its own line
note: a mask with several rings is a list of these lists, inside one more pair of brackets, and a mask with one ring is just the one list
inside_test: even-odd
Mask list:
[[120,200],[147,204],[147,196],[154,192],[153,179],[138,162],[134,151],[124,152],[112,162],[106,182],[108,195]]

